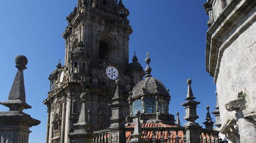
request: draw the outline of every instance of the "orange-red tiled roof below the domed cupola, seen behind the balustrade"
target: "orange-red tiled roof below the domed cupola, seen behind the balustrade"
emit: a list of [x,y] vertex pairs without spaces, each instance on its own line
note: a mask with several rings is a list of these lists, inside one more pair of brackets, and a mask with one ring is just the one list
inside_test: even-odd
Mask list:
[[[126,126],[126,128],[134,128],[135,125]],[[146,139],[148,141],[151,141],[152,139],[155,140],[163,140],[164,143],[176,143],[176,140],[179,141],[179,143],[184,143],[183,141],[183,131],[170,131],[168,130],[169,127],[178,127],[176,125],[170,125],[170,124],[164,124],[164,123],[144,123],[141,125],[142,130],[145,128],[167,128],[165,131],[142,131],[142,134],[144,134],[141,138]],[[150,129],[149,129],[150,130]],[[132,132],[127,131],[125,133],[126,135],[126,141],[130,141],[133,136],[131,135]],[[178,139],[176,139],[176,135],[178,135]]]

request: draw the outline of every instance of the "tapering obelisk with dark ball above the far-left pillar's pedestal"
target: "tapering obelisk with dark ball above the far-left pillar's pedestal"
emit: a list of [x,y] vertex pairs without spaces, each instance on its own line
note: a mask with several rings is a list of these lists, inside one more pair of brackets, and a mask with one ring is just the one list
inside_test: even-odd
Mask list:
[[23,70],[27,69],[27,58],[23,55],[19,55],[15,58],[17,73],[12,84],[8,100],[6,102],[0,102],[0,104],[9,107],[10,111],[23,111],[23,109],[31,108],[30,105],[26,103],[25,95],[25,85]]

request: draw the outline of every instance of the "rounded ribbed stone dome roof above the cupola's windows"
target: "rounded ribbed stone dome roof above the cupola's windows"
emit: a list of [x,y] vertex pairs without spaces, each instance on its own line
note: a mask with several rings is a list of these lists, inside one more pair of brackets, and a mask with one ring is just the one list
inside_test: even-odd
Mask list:
[[143,94],[161,94],[169,96],[165,85],[154,77],[146,77],[144,80],[137,83],[132,90],[131,98],[136,98]]

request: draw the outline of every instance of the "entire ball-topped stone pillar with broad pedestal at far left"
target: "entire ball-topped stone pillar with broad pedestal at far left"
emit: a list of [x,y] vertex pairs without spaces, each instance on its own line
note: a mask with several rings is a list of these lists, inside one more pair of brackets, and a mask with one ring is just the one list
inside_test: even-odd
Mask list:
[[0,104],[9,107],[10,110],[0,112],[0,142],[1,143],[28,143],[29,130],[32,126],[40,124],[39,120],[23,113],[23,109],[31,108],[26,103],[23,70],[26,69],[27,58],[19,55],[15,59],[18,69],[12,85],[8,100]]

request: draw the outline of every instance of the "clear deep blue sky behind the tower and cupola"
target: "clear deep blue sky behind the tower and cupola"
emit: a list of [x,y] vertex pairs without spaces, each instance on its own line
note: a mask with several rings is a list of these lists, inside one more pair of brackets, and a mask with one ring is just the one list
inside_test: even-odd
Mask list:
[[[123,0],[130,9],[130,62],[134,51],[145,68],[145,54],[150,53],[152,76],[170,89],[171,114],[180,112],[181,123],[186,121],[184,107],[186,79],[192,79],[192,90],[198,105],[196,120],[202,126],[206,105],[215,107],[215,84],[205,70],[206,31],[208,29],[203,3],[206,0]],[[27,103],[24,110],[41,124],[31,128],[30,143],[45,143],[46,106],[43,100],[49,90],[48,76],[63,64],[66,16],[76,0],[2,0],[0,2],[0,101],[6,101],[17,69],[17,55],[28,58],[24,71]],[[0,105],[0,111],[8,108]],[[175,115],[176,116],[176,115]],[[214,119],[214,115],[211,114]],[[175,117],[176,118],[176,117]]]

